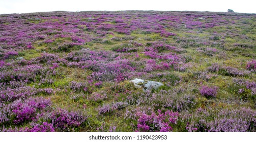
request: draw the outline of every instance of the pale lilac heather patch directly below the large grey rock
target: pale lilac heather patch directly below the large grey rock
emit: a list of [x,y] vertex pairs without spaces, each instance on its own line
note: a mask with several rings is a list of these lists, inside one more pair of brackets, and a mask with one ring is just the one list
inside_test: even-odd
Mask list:
[[190,110],[195,107],[194,94],[188,94],[184,89],[160,90],[156,93],[133,93],[127,96],[130,105],[151,105],[155,109],[168,109],[177,112]]

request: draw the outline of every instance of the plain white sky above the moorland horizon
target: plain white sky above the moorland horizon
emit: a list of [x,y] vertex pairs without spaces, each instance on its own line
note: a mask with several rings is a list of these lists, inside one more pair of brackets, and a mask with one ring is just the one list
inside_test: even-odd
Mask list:
[[0,0],[0,14],[31,13],[49,11],[212,11],[227,12],[232,9],[238,13],[256,13],[254,0]]

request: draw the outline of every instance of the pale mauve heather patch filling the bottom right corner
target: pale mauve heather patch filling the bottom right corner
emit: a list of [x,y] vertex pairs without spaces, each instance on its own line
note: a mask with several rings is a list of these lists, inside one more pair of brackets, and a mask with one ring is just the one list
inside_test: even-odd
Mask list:
[[183,121],[188,121],[188,131],[245,132],[255,131],[255,116],[256,112],[249,108],[200,108],[192,116],[182,117]]

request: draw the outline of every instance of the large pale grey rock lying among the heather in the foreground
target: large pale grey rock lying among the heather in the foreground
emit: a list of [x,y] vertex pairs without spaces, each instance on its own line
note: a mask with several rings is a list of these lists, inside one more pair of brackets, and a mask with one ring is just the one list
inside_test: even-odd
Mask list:
[[142,79],[134,79],[134,80],[131,80],[130,82],[132,82],[136,88],[143,88],[143,91],[149,91],[152,89],[157,89],[160,86],[163,86],[163,84],[160,82],[142,80]]

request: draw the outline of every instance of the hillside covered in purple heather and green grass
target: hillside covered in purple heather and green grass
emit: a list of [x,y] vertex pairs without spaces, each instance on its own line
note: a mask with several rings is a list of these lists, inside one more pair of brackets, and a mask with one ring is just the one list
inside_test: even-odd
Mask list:
[[242,13],[0,15],[0,131],[255,131],[255,33]]

